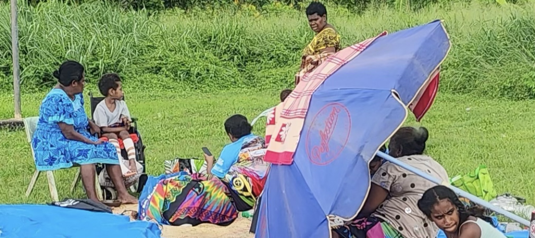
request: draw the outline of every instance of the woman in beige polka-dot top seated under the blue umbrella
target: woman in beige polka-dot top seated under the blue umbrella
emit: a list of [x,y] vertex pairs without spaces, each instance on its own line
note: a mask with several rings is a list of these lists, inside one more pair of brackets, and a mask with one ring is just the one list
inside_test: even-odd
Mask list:
[[[428,132],[424,127],[402,127],[388,144],[389,155],[420,171],[447,181],[444,167],[423,155]],[[333,238],[436,237],[438,228],[418,210],[421,194],[434,186],[421,176],[380,157],[370,162],[373,173],[368,198],[356,219],[334,229]]]

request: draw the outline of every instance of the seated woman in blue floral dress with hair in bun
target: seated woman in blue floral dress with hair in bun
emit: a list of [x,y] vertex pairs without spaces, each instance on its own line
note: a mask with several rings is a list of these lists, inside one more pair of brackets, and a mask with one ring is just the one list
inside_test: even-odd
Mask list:
[[39,121],[32,147],[37,170],[57,170],[80,165],[87,197],[98,202],[95,190],[95,165],[106,164],[122,203],[137,203],[125,188],[115,147],[88,132],[100,128],[87,118],[83,109],[84,68],[74,61],[63,63],[54,72],[58,84],[41,102]]

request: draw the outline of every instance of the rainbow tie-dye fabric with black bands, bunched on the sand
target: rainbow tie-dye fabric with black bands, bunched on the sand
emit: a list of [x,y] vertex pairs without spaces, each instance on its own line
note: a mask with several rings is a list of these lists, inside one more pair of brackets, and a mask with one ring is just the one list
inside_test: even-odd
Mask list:
[[157,182],[140,202],[140,220],[165,225],[225,226],[238,217],[227,186],[212,175],[177,173]]

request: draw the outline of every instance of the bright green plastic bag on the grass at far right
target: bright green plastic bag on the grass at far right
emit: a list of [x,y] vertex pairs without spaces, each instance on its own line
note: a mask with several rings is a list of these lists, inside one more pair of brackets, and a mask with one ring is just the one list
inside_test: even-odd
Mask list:
[[476,170],[464,176],[455,176],[453,179],[450,179],[450,184],[487,202],[491,201],[497,195],[491,176],[485,165],[479,165]]

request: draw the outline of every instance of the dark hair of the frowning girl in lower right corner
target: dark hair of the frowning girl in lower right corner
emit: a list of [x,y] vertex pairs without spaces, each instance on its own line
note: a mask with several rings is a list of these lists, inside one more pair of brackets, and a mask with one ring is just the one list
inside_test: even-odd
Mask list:
[[459,212],[459,224],[463,224],[467,221],[469,216],[477,217],[493,224],[492,218],[485,216],[484,208],[477,205],[469,206],[467,208],[452,189],[442,185],[427,189],[424,195],[422,195],[422,198],[418,201],[418,209],[420,209],[427,218],[431,219],[431,209],[442,199],[448,199],[457,207],[457,211]]

